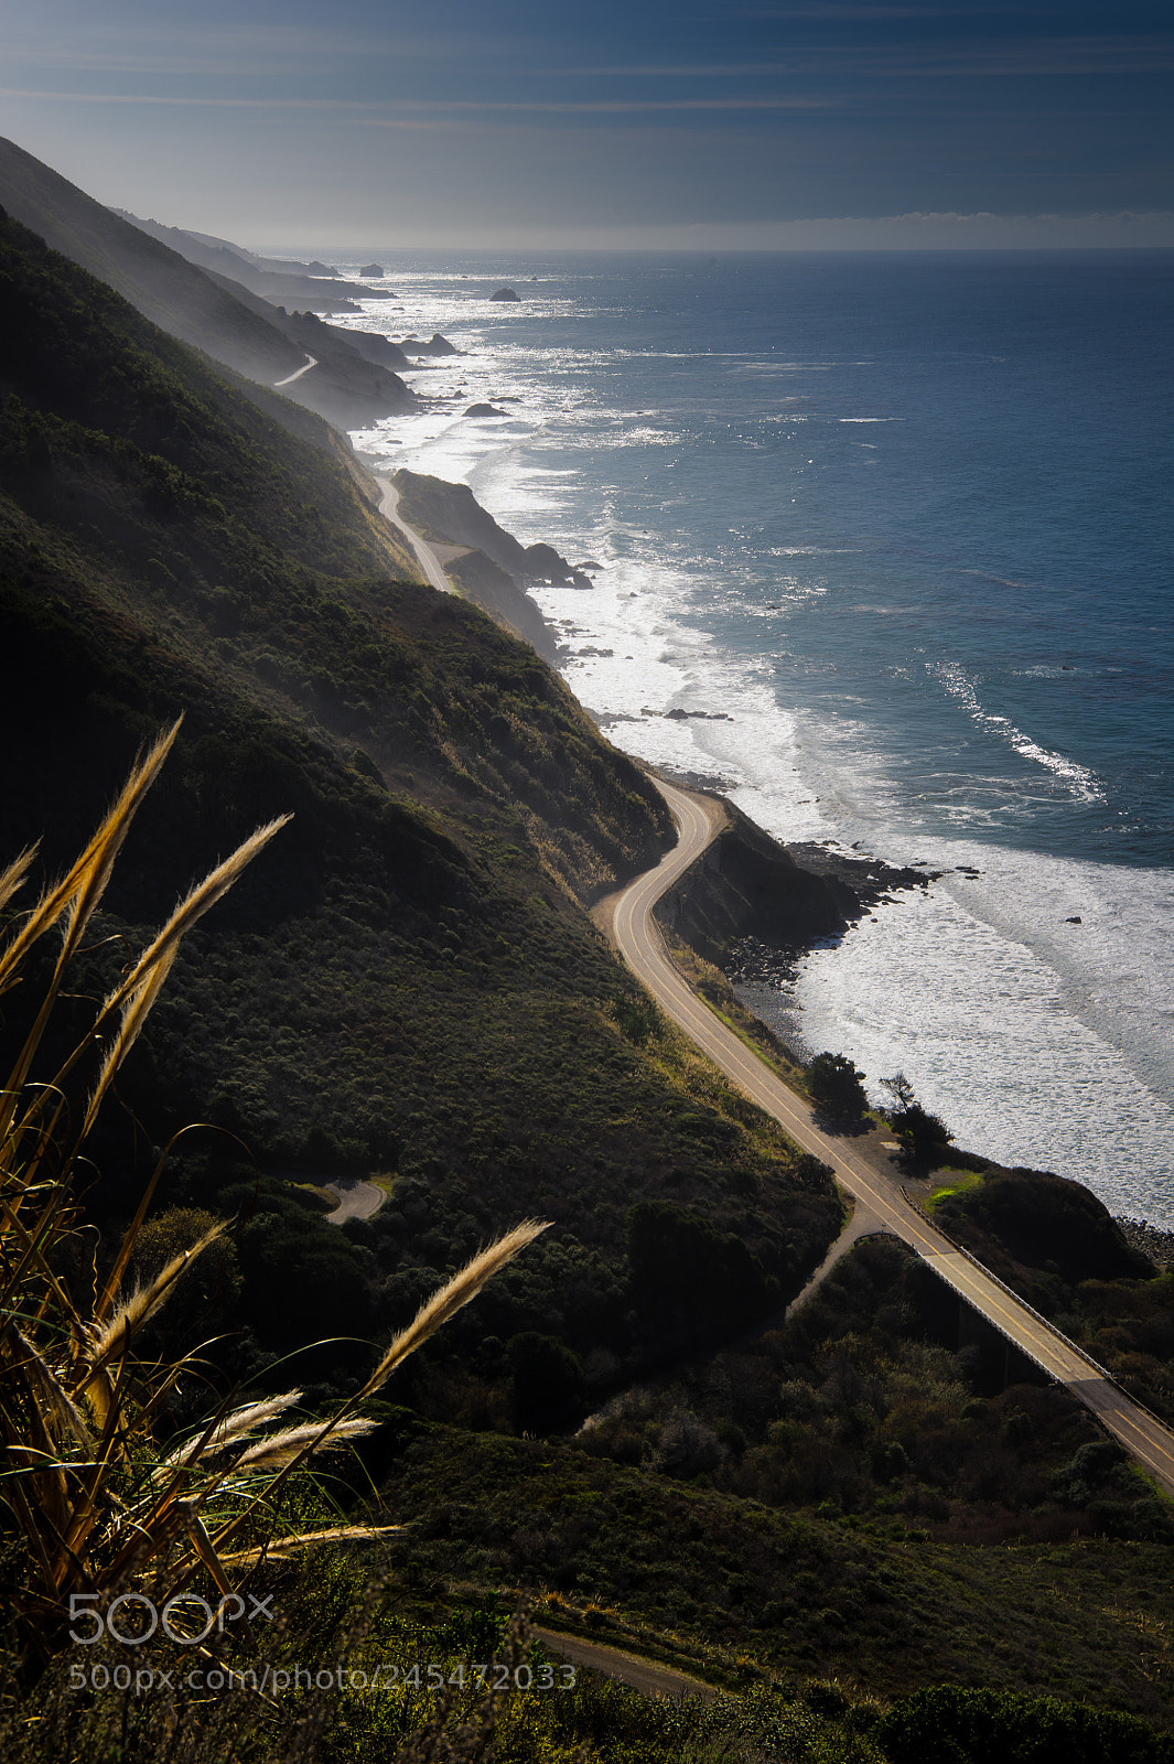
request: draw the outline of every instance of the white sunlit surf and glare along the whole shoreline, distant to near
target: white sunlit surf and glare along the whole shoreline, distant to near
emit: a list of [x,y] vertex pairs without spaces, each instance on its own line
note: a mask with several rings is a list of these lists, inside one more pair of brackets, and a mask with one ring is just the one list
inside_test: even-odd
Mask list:
[[[922,764],[918,796],[899,739],[878,729],[864,693],[853,711],[844,690],[836,714],[786,695],[795,654],[779,619],[834,596],[843,556],[832,554],[846,547],[797,536],[747,566],[756,536],[746,522],[723,529],[709,508],[707,540],[675,487],[689,441],[672,409],[592,402],[596,367],[622,388],[620,349],[598,362],[591,351],[568,360],[566,349],[543,358],[508,326],[487,337],[483,298],[446,289],[434,272],[421,272],[416,295],[404,272],[395,286],[404,328],[441,328],[471,353],[416,379],[448,407],[395,418],[356,443],[388,467],[471,483],[525,543],[548,540],[571,561],[601,564],[592,593],[534,598],[561,633],[569,686],[610,739],[721,780],[779,838],[858,843],[943,871],[924,894],[881,905],[804,958],[793,998],[781,1002],[799,1014],[806,1046],[850,1053],[878,1097],[878,1080],[901,1069],[961,1143],[1075,1175],[1114,1212],[1174,1226],[1174,873],[1031,848],[1003,831],[1015,792],[1028,813],[1035,799],[1096,804],[1096,767],[1021,727],[1022,714],[989,707],[973,667],[915,654],[917,690],[957,706],[975,739],[1005,748],[1017,767],[996,764],[984,780],[973,767],[955,774],[943,755],[940,778]],[[383,328],[388,314],[358,323]],[[672,362],[663,370],[677,372]],[[509,399],[522,400],[516,411]],[[479,400],[509,415],[465,418],[464,406]],[[876,434],[853,423],[850,434]],[[636,476],[642,496],[631,492]],[[758,564],[770,573],[769,600],[756,593]],[[906,610],[866,568],[867,557],[848,602],[864,630]],[[732,621],[751,637],[732,640]]]

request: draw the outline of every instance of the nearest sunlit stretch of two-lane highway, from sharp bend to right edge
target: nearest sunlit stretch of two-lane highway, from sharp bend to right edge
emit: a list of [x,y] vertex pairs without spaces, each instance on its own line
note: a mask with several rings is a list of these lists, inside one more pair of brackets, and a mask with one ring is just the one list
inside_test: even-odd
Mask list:
[[665,1016],[672,1018],[739,1090],[774,1115],[797,1145],[830,1164],[837,1180],[867,1208],[878,1226],[917,1251],[947,1286],[1084,1402],[1165,1492],[1174,1496],[1170,1429],[1139,1408],[1095,1360],[927,1224],[904,1200],[895,1182],[869,1170],[853,1157],[850,1147],[821,1132],[802,1099],[788,1090],[783,1080],[686,986],[668,958],[652,908],[721,831],[724,811],[712,799],[679,790],[659,778],[652,781],[668,803],[680,834],[679,843],[656,870],[636,877],[608,907],[620,954],[649,988]]

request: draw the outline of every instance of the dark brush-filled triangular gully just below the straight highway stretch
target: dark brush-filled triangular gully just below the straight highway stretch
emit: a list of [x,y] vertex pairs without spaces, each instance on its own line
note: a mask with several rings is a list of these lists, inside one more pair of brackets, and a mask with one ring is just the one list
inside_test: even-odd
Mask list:
[[888,1238],[860,1242],[777,1328],[615,1397],[580,1441],[943,1542],[1172,1536],[1167,1505],[1082,1406]]

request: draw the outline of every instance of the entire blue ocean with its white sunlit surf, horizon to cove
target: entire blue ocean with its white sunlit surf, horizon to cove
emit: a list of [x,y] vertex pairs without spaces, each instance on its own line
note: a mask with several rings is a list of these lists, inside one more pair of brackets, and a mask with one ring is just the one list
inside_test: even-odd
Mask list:
[[1174,1228],[1174,254],[381,263],[344,323],[464,353],[356,446],[592,564],[608,737],[941,871],[763,1013]]

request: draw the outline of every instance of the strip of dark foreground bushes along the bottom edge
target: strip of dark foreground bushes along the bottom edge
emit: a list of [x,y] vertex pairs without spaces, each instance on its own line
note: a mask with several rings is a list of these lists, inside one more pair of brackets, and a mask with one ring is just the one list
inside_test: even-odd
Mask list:
[[[1089,1589],[1095,1582],[1089,1581]],[[1014,1690],[940,1685],[881,1706],[853,1699],[841,1679],[763,1676],[753,1663],[719,1649],[702,1665],[680,1639],[673,1658],[691,1676],[707,1669],[733,1683],[684,1700],[650,1699],[624,1683],[578,1667],[573,1676],[557,1642],[527,1641],[501,1596],[458,1602],[432,1598],[427,1614],[372,1598],[365,1566],[323,1558],[284,1586],[289,1621],[266,1635],[271,1679],[266,1699],[245,1693],[208,1697],[192,1718],[190,1702],[166,1686],[79,1699],[65,1672],[41,1686],[39,1720],[0,1708],[0,1743],[11,1764],[62,1759],[116,1759],[118,1764],[245,1764],[280,1757],[286,1764],[383,1764],[395,1757],[462,1764],[991,1764],[994,1759],[1056,1759],[1063,1764],[1169,1764],[1174,1739],[1137,1716],[1065,1697]],[[568,1609],[561,1602],[561,1618]],[[358,1612],[358,1616],[356,1616]],[[608,1619],[598,1607],[589,1618]],[[543,1611],[541,1619],[550,1621]],[[598,1633],[598,1623],[589,1625]],[[624,1639],[633,1637],[624,1628]],[[647,1646],[647,1637],[640,1637]],[[344,1683],[330,1695],[287,1686],[308,1648],[310,1658],[344,1655]],[[92,1655],[97,1671],[115,1672],[118,1649]],[[137,1669],[175,1667],[175,1653],[146,1644]],[[427,1676],[444,1676],[444,1690]],[[249,1685],[249,1656],[231,1660]],[[487,1723],[485,1678],[520,1681],[495,1697]],[[488,1671],[487,1671],[488,1667]],[[335,1669],[337,1671],[337,1669]],[[303,1667],[305,1672],[305,1667]],[[393,1678],[395,1674],[395,1678]],[[379,1690],[372,1693],[372,1681]],[[388,1686],[388,1688],[383,1688]],[[554,1686],[554,1688],[543,1688]],[[411,1738],[409,1738],[411,1736]],[[451,1750],[442,1750],[444,1745]],[[427,1750],[430,1746],[430,1750]]]

